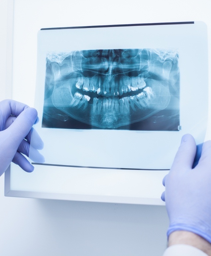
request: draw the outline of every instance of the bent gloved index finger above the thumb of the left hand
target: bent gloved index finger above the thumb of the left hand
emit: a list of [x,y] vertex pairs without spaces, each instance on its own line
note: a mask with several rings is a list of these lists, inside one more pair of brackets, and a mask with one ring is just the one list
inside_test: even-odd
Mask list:
[[28,105],[15,100],[7,99],[0,102],[0,109],[3,110],[1,112],[1,117],[3,118],[4,121],[6,121],[10,115],[13,115],[13,116],[20,115],[20,113],[27,108],[29,108]]

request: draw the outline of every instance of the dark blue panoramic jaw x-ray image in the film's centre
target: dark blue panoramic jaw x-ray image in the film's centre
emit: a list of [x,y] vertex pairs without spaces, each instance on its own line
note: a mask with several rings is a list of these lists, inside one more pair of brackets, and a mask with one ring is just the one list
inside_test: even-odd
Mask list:
[[176,49],[49,52],[42,127],[178,130]]

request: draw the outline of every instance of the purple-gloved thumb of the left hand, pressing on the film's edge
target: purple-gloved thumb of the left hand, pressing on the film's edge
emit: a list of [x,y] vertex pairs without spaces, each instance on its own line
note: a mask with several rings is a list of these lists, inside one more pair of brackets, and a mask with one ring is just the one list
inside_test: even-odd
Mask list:
[[7,128],[10,132],[10,142],[17,148],[21,141],[30,132],[33,124],[37,119],[37,110],[34,108],[25,109],[20,115],[14,120],[14,122]]

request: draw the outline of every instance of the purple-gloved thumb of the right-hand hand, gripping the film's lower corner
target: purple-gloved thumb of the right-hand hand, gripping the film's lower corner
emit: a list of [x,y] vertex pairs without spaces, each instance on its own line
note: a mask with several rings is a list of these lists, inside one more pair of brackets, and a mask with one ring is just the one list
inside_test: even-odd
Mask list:
[[183,135],[170,172],[172,170],[192,169],[195,155],[196,143],[193,136],[190,134]]

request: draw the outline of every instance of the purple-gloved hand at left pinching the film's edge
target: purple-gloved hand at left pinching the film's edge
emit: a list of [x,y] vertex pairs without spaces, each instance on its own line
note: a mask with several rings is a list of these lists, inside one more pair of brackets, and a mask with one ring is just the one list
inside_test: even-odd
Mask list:
[[[36,109],[14,100],[0,102],[0,175],[6,171],[11,161],[27,172],[34,170],[34,166],[23,154],[29,156],[32,126],[36,120]],[[33,147],[43,148],[39,136]]]

